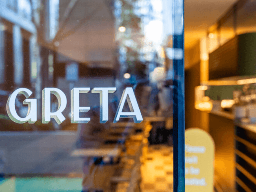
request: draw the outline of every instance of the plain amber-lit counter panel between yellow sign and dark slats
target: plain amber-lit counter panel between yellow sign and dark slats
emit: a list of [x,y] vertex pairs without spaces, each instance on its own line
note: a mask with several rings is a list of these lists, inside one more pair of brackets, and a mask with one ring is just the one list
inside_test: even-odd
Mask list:
[[221,189],[216,191],[235,192],[235,136],[232,115],[212,110],[209,114],[209,133],[215,144],[214,185]]

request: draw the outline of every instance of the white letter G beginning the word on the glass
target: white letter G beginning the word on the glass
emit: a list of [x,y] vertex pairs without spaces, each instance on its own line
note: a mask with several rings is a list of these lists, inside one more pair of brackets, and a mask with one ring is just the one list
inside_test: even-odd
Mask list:
[[[28,105],[28,114],[24,118],[21,118],[20,116],[18,116],[15,110],[15,100],[18,94],[23,94],[26,97],[26,99],[23,101],[23,104]],[[30,91],[27,88],[18,88],[10,95],[7,101],[6,110],[11,120],[13,120],[16,123],[25,123],[27,121],[28,123],[36,122],[37,120],[36,99],[28,99],[28,97],[31,94],[32,94],[32,91]]]

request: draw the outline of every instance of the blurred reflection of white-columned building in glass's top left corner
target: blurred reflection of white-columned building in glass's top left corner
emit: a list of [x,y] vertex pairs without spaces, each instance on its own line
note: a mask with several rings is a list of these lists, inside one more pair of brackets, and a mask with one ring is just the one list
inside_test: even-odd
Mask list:
[[[35,82],[36,26],[32,7],[38,1],[0,2],[0,89],[12,91]],[[6,94],[7,92],[3,92]]]

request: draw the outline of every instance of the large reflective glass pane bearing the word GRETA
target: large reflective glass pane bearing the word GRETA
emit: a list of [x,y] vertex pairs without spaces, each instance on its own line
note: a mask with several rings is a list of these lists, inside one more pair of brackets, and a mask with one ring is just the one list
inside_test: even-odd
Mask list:
[[172,191],[183,1],[0,4],[0,191]]

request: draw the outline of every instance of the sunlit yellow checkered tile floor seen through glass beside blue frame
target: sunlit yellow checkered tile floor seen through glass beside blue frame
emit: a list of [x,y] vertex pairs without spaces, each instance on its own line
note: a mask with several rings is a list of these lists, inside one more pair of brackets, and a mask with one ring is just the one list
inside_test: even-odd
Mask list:
[[149,146],[148,156],[141,166],[142,192],[173,191],[173,148]]

